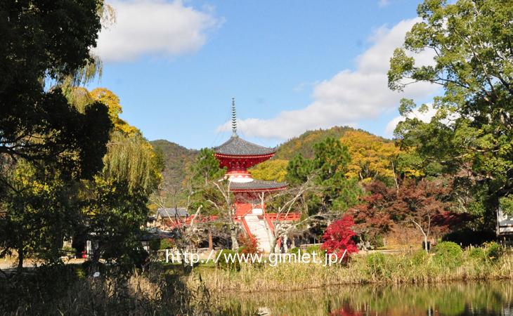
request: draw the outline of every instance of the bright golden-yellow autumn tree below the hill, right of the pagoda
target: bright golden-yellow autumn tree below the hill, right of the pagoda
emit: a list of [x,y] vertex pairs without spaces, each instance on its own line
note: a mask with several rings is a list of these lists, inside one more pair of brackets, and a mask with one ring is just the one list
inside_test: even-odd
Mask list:
[[348,131],[340,141],[351,154],[347,176],[360,180],[377,176],[394,177],[392,164],[401,150],[393,142],[362,131]]

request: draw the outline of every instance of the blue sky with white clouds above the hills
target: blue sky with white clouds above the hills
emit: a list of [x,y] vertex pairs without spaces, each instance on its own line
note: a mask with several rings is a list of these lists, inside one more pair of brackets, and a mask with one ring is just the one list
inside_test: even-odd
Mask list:
[[[117,23],[100,34],[103,76],[90,88],[116,93],[149,140],[219,145],[232,97],[240,135],[263,145],[334,125],[389,137],[398,120],[387,63],[419,1],[108,3]],[[403,96],[434,93],[424,84]]]

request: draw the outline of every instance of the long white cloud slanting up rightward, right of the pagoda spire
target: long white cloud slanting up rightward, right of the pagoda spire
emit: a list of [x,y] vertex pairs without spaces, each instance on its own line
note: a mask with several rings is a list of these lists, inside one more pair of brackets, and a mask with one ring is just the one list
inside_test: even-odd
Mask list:
[[[426,98],[438,90],[425,83],[413,84],[403,93],[389,90],[387,71],[396,47],[403,44],[405,33],[420,19],[403,20],[391,28],[377,29],[370,39],[372,46],[356,58],[356,70],[342,70],[331,79],[313,87],[313,103],[301,110],[283,111],[272,119],[245,119],[240,130],[245,136],[287,139],[308,129],[335,125],[357,126],[363,119],[376,119],[380,114],[398,107],[401,98]],[[415,58],[426,63],[429,53]],[[228,131],[230,124],[219,126]]]

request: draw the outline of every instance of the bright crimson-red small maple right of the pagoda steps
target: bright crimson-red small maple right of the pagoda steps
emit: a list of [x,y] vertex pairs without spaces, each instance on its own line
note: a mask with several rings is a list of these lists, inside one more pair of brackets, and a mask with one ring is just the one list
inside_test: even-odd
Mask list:
[[328,254],[337,254],[337,256],[344,256],[358,252],[358,247],[353,240],[356,233],[352,230],[354,225],[353,218],[345,215],[339,220],[327,226],[323,235],[323,244],[321,249],[325,249]]

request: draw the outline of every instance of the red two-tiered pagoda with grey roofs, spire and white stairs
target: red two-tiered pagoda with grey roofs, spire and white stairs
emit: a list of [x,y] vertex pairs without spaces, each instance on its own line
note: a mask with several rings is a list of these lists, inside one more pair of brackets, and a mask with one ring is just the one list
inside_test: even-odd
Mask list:
[[[286,183],[254,179],[247,170],[265,162],[275,154],[275,148],[263,147],[243,140],[237,133],[235,100],[232,99],[232,136],[222,145],[215,147],[216,159],[221,168],[226,167],[225,177],[229,181],[229,190],[233,192],[235,221],[251,238],[256,238],[261,250],[271,251],[275,223],[287,225],[299,220],[299,213],[267,213],[264,199],[267,194],[284,190]],[[278,240],[277,247],[280,246]]]

